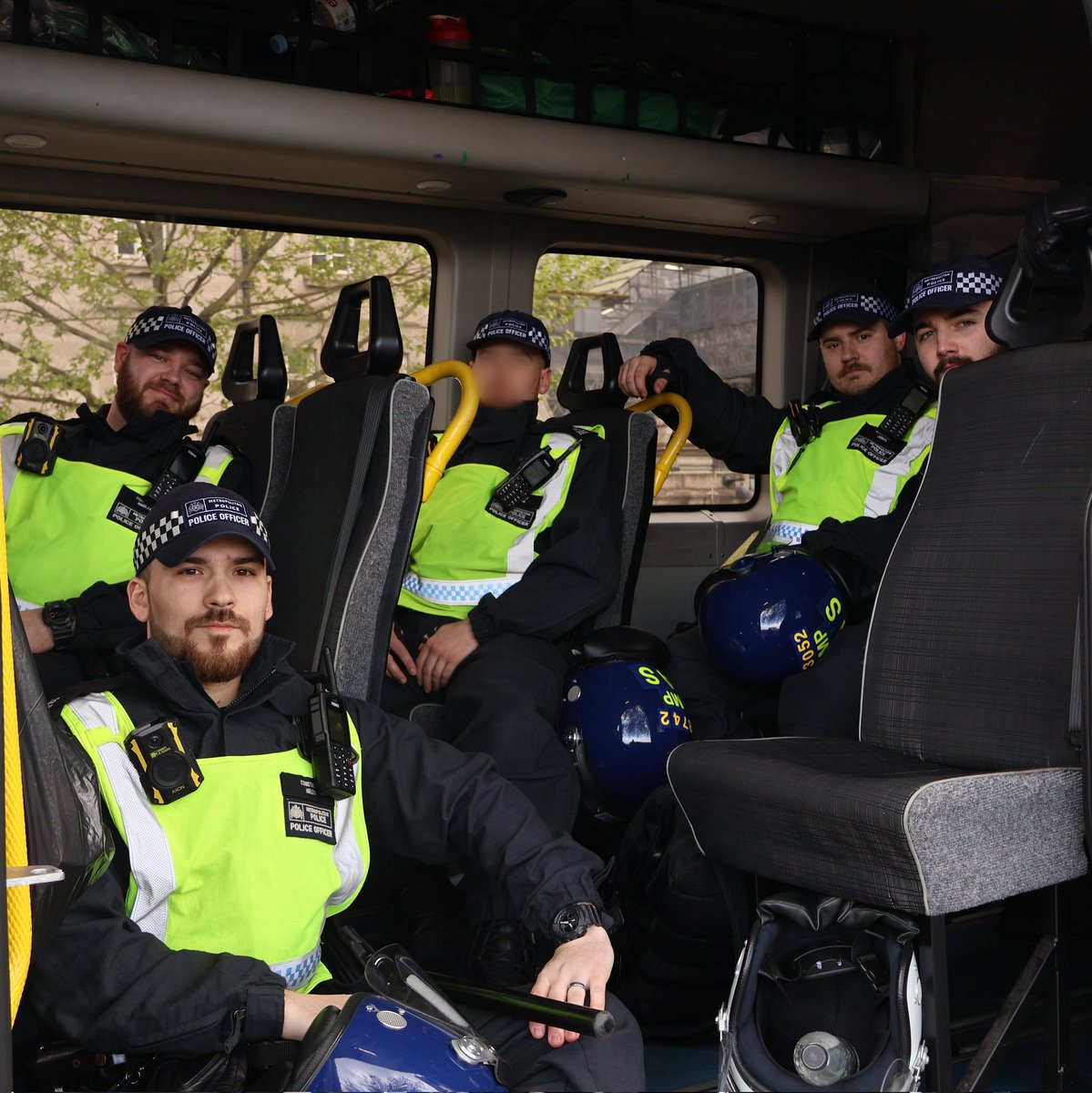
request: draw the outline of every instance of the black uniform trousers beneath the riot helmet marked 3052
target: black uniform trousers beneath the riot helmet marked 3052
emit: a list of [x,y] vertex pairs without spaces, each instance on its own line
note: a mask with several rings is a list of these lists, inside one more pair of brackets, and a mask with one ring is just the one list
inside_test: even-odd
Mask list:
[[725,674],[702,645],[696,626],[668,640],[668,670],[702,740],[745,739],[778,732],[792,737],[857,737],[868,623],[846,626],[811,671],[761,687]]

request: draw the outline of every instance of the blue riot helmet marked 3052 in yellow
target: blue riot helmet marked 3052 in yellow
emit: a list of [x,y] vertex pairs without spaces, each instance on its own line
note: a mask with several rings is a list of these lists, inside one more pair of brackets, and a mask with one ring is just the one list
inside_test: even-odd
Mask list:
[[773,685],[814,668],[846,624],[848,595],[801,546],[744,554],[709,574],[695,597],[702,643],[748,683]]

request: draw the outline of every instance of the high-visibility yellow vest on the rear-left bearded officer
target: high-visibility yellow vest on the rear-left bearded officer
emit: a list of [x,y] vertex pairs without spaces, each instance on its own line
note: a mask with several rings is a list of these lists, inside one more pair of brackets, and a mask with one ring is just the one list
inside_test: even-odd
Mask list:
[[[24,427],[0,425],[8,562],[20,607],[79,596],[97,580],[128,580],[142,515],[125,505],[121,490],[143,496],[152,483],[63,456],[49,474],[21,471],[15,454]],[[228,448],[213,445],[197,481],[218,483],[231,461]]]

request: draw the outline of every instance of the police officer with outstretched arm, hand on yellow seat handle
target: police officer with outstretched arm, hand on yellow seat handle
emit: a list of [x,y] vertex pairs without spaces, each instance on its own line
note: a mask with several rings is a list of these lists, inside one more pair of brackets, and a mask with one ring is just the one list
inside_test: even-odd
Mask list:
[[[905,334],[889,332],[896,313],[872,285],[847,285],[822,298],[808,337],[819,343],[831,389],[802,406],[775,407],[743,395],[679,338],[653,342],[626,361],[620,386],[636,397],[679,391],[694,411],[695,444],[735,471],[770,474],[773,515],[762,542],[802,542],[867,586],[891,548],[874,518],[908,502],[932,440],[929,398],[913,364],[900,360]],[[880,426],[904,403],[914,408],[906,411],[911,424],[888,442]],[[672,639],[671,657],[672,682],[698,736],[754,736],[784,719],[776,692],[726,677],[705,654],[696,628]],[[818,670],[830,672],[824,661]],[[855,675],[852,660],[834,690],[844,695],[843,706],[856,701],[859,670]],[[842,719],[834,709],[808,713]]]

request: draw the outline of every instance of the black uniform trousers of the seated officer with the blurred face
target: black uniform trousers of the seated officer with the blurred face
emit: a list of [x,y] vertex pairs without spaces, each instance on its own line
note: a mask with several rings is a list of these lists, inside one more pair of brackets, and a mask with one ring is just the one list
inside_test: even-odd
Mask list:
[[[399,608],[395,614],[411,654],[438,626],[455,620]],[[555,831],[571,831],[579,802],[573,761],[557,737],[565,658],[541,637],[501,634],[483,642],[444,690],[425,694],[416,680],[383,681],[380,705],[407,717],[421,703],[443,703],[444,739],[484,752]]]

